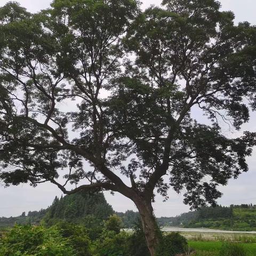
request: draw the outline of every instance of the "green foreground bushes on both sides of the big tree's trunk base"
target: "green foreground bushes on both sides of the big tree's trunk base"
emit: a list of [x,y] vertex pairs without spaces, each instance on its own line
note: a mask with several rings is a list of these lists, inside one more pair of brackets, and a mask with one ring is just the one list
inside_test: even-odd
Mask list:
[[[122,221],[111,215],[101,230],[58,222],[52,227],[15,225],[0,238],[1,256],[149,256],[140,224],[133,233],[121,230]],[[178,233],[159,233],[156,255],[185,253],[188,244]]]

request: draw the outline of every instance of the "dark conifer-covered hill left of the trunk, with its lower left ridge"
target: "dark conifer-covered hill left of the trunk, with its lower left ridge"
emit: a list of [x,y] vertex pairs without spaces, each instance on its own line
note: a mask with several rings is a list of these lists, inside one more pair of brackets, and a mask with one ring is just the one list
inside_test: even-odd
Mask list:
[[98,221],[107,219],[113,214],[113,208],[105,199],[103,193],[85,193],[55,197],[47,209],[23,212],[19,217],[0,218],[0,227],[11,227],[18,224],[38,224],[42,220],[46,225],[52,225],[58,220],[82,222],[84,218]]

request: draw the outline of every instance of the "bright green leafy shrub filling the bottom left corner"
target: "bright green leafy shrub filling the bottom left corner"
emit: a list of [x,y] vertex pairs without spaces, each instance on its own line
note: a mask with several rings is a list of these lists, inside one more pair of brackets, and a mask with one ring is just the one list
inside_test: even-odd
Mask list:
[[1,240],[0,255],[4,256],[75,256],[68,238],[56,228],[14,226]]

